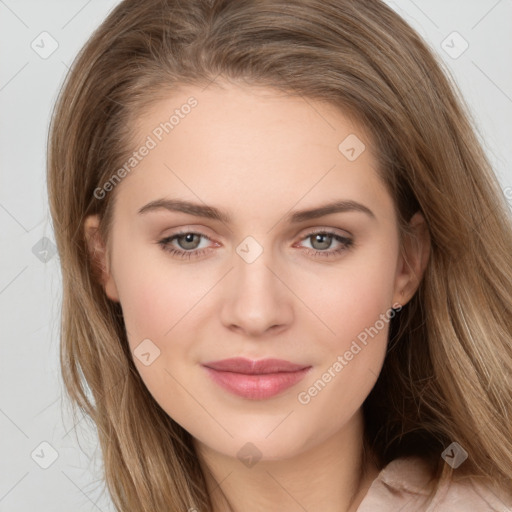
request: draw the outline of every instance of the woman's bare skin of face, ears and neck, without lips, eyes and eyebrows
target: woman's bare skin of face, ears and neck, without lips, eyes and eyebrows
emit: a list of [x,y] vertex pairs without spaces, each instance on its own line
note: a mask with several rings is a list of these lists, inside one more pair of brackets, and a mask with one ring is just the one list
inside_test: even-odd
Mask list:
[[[378,474],[372,462],[362,464],[361,406],[382,368],[389,325],[309,403],[297,397],[379,315],[415,293],[429,252],[425,222],[419,213],[412,218],[416,237],[404,239],[402,253],[371,139],[334,106],[219,84],[175,91],[139,119],[134,130],[143,142],[190,96],[198,101],[110,192],[108,241],[98,235],[99,218],[87,218],[91,253],[106,294],[121,303],[132,351],[144,339],[160,350],[149,366],[137,357],[135,365],[155,400],[193,435],[216,511],[355,511]],[[350,134],[366,145],[354,161],[338,150]],[[160,198],[212,205],[231,221],[137,213]],[[334,200],[363,204],[374,218],[347,211],[286,220]],[[158,245],[182,229],[210,238],[196,239],[196,249],[183,238],[170,243],[206,248],[199,257],[179,259]],[[322,230],[353,245],[325,256],[343,245],[310,236]],[[263,248],[252,263],[236,252],[247,236]],[[312,369],[278,396],[249,400],[201,367],[236,356]],[[246,449],[261,456],[251,467],[237,456],[249,442]]]

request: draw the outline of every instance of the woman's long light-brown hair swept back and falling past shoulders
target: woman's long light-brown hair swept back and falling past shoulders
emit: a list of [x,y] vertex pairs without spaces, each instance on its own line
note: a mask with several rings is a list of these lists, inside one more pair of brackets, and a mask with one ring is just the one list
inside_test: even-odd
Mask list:
[[[192,439],[132,361],[120,305],[88,253],[83,221],[108,239],[116,190],[94,191],[133,151],[132,121],[183,84],[218,76],[325,100],[373,137],[401,232],[427,221],[430,260],[392,320],[364,403],[379,467],[419,455],[450,478],[512,481],[512,229],[468,109],[418,34],[380,0],[124,0],[75,60],[49,138],[48,188],[63,277],[61,366],[98,428],[119,510],[211,510]],[[134,415],[133,411],[137,411]],[[453,476],[453,475],[452,475]]]

